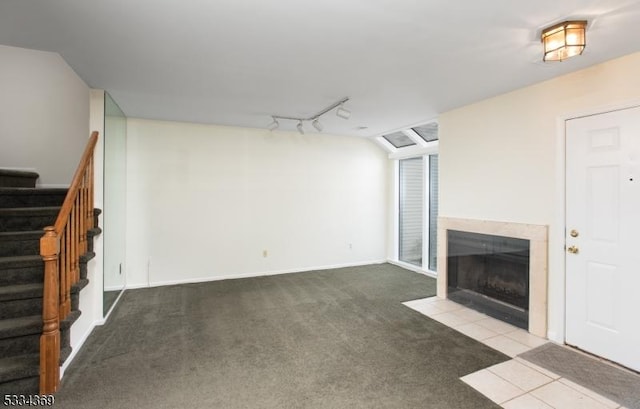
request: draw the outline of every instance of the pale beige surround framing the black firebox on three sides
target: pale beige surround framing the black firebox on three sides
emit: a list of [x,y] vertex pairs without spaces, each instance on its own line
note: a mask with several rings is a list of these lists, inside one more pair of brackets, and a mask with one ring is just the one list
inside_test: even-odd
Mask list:
[[545,225],[438,218],[438,297],[447,298],[447,230],[529,240],[529,332],[547,337],[547,249]]

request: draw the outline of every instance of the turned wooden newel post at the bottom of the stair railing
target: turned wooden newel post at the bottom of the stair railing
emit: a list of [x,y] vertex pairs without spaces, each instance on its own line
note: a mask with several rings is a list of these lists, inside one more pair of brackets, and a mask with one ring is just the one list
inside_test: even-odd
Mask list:
[[40,336],[40,394],[43,395],[56,392],[60,384],[60,241],[54,227],[45,227],[44,231],[40,238],[40,255],[44,261],[43,328]]

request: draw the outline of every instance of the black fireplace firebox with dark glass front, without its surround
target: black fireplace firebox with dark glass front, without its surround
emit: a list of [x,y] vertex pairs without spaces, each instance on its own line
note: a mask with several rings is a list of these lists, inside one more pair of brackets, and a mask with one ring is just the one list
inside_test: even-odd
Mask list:
[[529,240],[449,230],[447,243],[448,298],[528,329]]

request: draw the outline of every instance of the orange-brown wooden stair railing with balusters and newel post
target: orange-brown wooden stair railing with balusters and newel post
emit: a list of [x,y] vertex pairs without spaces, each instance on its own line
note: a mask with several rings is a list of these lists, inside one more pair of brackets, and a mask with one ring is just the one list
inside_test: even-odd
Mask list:
[[80,280],[80,256],[87,252],[93,229],[93,152],[98,132],[92,132],[53,226],[44,228],[40,255],[44,262],[40,394],[60,386],[60,321],[71,312],[71,287]]

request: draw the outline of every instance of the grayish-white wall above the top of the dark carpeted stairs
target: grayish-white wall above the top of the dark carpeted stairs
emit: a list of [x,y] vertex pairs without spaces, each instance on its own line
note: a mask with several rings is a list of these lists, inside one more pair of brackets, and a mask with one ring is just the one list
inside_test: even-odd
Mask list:
[[0,167],[68,186],[89,138],[89,88],[58,54],[0,45]]

